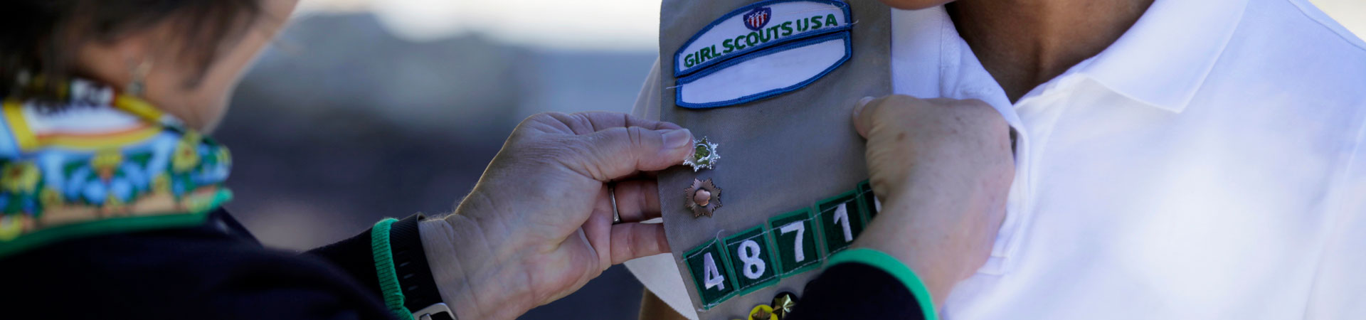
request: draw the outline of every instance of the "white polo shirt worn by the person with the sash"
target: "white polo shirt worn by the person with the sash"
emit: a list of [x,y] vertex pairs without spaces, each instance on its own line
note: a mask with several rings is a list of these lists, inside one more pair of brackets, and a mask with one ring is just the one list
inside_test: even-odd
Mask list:
[[[893,10],[891,66],[1019,131],[992,258],[944,317],[1366,317],[1366,42],[1307,1],[1157,0],[1014,104],[941,7]],[[697,317],[672,257],[627,267]]]

